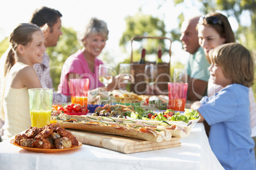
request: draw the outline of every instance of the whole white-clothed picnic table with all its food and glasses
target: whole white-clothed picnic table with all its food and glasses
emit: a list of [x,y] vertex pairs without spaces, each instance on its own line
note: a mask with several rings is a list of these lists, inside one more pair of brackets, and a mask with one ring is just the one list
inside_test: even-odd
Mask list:
[[[99,68],[108,86],[110,68]],[[158,69],[145,64],[147,86],[157,86]],[[71,103],[52,103],[52,91],[29,89],[31,128],[0,143],[0,169],[223,169],[189,109],[187,76],[174,74],[167,95],[89,90],[89,79],[70,79]]]

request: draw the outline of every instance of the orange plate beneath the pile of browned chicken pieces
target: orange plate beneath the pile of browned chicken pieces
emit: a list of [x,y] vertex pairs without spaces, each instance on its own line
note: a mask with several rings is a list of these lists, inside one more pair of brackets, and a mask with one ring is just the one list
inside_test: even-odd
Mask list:
[[68,150],[72,150],[78,147],[82,147],[82,143],[80,141],[78,141],[78,146],[74,146],[72,145],[71,148],[64,148],[64,149],[42,149],[42,148],[29,148],[29,147],[22,147],[20,145],[18,145],[17,143],[15,143],[15,139],[10,141],[11,144],[15,145],[16,147],[20,147],[20,148],[24,148],[25,150],[29,150],[31,152],[42,152],[42,153],[56,153],[56,152],[65,152]]

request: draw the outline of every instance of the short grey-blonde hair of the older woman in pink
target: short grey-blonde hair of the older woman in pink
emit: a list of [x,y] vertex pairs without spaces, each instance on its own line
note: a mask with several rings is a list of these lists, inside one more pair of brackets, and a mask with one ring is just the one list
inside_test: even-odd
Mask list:
[[97,18],[91,18],[82,34],[78,34],[78,39],[82,42],[85,37],[89,36],[89,34],[96,34],[103,36],[108,40],[108,33],[109,30],[106,22],[98,20]]

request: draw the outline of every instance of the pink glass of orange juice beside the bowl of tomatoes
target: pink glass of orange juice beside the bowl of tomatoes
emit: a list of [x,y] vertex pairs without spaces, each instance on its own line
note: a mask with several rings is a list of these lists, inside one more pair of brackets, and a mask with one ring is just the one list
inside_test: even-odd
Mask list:
[[89,79],[69,79],[69,89],[71,93],[71,102],[87,107]]

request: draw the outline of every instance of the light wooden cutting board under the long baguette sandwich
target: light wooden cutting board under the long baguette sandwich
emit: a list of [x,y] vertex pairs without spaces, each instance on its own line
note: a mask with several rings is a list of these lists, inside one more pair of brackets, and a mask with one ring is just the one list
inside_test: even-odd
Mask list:
[[126,138],[123,136],[115,136],[111,134],[91,133],[86,131],[78,131],[74,129],[66,129],[71,132],[78,141],[95,147],[107,148],[131,154],[136,152],[144,152],[149,150],[159,150],[164,148],[180,147],[180,138],[171,138],[170,141],[153,142],[145,140],[137,140],[134,138]]

